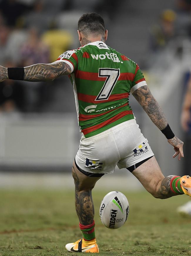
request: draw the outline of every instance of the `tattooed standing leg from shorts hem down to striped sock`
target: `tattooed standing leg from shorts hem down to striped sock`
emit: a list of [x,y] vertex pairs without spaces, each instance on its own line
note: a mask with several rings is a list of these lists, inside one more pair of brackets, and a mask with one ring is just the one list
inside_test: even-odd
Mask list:
[[88,177],[81,173],[75,163],[72,167],[75,183],[75,206],[79,221],[83,225],[93,223],[94,206],[91,191],[100,177]]

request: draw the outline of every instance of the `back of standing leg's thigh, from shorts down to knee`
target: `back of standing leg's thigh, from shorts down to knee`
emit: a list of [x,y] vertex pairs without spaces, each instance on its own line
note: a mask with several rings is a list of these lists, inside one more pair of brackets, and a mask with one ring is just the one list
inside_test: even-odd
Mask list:
[[73,162],[73,166],[72,166],[72,176],[74,179],[75,188],[78,191],[93,189],[96,182],[101,178],[101,177],[86,176],[85,174],[83,174],[78,170],[75,162]]

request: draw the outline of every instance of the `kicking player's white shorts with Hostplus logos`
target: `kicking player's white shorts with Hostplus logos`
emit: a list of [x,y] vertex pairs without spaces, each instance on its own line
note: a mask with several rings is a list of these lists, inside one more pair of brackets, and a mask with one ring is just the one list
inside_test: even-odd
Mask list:
[[116,165],[119,169],[135,167],[153,155],[148,140],[132,119],[90,138],[82,136],[75,161],[85,172],[113,173]]

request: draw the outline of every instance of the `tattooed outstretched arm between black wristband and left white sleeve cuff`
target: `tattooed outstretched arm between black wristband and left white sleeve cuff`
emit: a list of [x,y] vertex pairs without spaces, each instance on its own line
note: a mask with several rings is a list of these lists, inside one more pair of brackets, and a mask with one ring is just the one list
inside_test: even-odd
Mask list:
[[71,73],[71,67],[65,62],[53,62],[51,64],[35,64],[24,68],[25,81],[48,81]]

